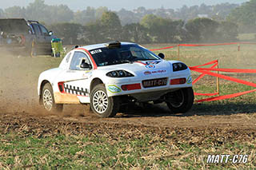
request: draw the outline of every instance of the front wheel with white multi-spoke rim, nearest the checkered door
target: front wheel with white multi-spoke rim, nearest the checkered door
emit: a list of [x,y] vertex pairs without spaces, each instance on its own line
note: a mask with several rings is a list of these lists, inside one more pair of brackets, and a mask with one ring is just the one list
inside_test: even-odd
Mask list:
[[92,89],[90,108],[98,117],[114,117],[119,107],[118,97],[107,97],[104,85],[99,84]]

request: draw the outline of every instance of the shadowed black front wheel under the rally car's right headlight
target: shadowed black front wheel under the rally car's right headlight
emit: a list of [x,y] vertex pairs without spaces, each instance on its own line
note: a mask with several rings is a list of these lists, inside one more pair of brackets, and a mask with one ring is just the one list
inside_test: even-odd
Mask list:
[[166,104],[170,113],[186,113],[194,103],[194,91],[190,88],[178,89],[166,94]]

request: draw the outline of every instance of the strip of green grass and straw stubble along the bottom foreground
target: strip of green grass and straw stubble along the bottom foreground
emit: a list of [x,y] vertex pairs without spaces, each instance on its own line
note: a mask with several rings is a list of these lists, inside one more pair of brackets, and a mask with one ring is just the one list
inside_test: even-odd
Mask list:
[[[218,164],[218,167],[255,168],[255,140],[248,143],[221,144],[206,136],[202,144],[193,142],[173,143],[161,136],[145,135],[139,139],[118,140],[105,136],[56,135],[38,138],[31,134],[20,139],[21,133],[1,135],[0,168],[35,169],[198,169],[216,168],[206,164],[208,154],[247,154],[246,164]],[[197,136],[193,136],[197,141]]]

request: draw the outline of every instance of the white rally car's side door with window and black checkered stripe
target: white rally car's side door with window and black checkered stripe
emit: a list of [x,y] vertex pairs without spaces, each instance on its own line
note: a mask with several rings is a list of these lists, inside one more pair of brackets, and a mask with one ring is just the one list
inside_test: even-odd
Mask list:
[[70,68],[63,75],[68,78],[64,82],[64,91],[76,95],[81,103],[90,103],[90,78],[93,69],[81,68],[83,62],[91,65],[86,53],[75,51],[70,61]]

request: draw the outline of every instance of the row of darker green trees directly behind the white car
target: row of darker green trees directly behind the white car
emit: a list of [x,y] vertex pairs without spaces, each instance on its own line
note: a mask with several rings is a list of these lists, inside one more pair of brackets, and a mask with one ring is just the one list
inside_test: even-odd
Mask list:
[[236,41],[238,26],[233,22],[217,22],[195,18],[188,22],[160,18],[149,14],[141,22],[122,26],[114,12],[85,26],[78,23],[56,23],[48,26],[65,44],[93,44],[108,41],[145,43],[231,42]]

